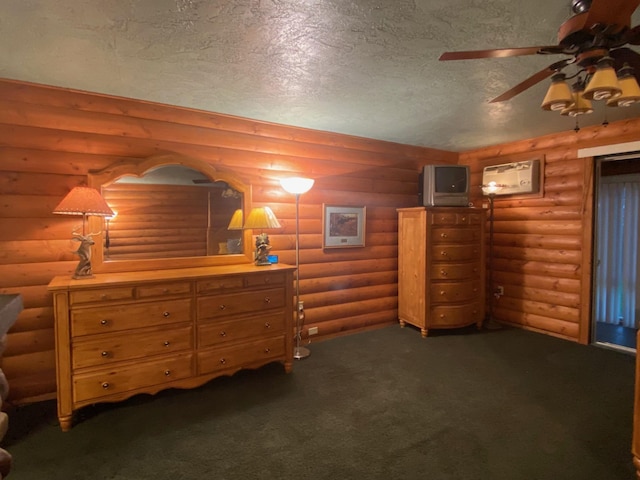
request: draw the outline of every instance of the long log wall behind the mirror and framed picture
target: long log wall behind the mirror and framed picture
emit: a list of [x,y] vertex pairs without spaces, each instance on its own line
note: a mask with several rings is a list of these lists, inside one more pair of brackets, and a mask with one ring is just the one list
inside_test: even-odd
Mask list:
[[[214,94],[212,92],[212,94]],[[53,311],[47,284],[69,275],[78,219],[51,212],[90,171],[175,152],[233,171],[281,229],[272,253],[295,264],[295,198],[279,179],[314,178],[300,200],[306,327],[327,338],[397,321],[396,208],[417,204],[420,166],[457,153],[0,80],[0,291],[24,310],[4,354],[14,404],[55,397]],[[367,207],[364,248],[322,249],[323,204]],[[306,329],[305,329],[306,337]]]

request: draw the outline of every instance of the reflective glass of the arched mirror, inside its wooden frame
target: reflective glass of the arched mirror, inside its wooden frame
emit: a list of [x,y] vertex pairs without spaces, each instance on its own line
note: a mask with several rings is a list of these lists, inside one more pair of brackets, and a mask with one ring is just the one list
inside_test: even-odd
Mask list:
[[104,259],[199,257],[241,253],[229,230],[242,193],[183,165],[126,175],[102,188],[117,215],[105,224]]

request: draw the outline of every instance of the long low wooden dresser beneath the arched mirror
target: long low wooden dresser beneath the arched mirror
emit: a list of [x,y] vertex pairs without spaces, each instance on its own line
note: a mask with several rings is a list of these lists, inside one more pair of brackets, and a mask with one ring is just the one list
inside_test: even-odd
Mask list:
[[293,366],[293,272],[253,264],[97,274],[49,284],[58,418],[270,362]]

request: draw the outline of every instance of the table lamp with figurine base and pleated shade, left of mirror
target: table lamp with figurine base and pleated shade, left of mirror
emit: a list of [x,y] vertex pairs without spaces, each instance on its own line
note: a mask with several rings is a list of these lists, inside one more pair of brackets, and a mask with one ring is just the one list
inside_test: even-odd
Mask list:
[[82,215],[82,235],[74,233],[73,239],[80,242],[76,255],[80,257],[80,262],[76,267],[73,278],[83,279],[93,277],[91,271],[91,246],[95,243],[91,238],[93,233],[86,234],[85,223],[89,215],[98,217],[113,217],[113,210],[100,192],[91,187],[75,187],[53,210],[58,215]]

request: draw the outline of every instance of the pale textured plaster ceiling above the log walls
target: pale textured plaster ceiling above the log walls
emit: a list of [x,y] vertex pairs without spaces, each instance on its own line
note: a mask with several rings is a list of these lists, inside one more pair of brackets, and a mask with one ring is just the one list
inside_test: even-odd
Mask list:
[[[539,108],[548,81],[488,103],[565,57],[438,61],[554,45],[570,3],[2,0],[0,77],[464,151],[573,134],[574,120]],[[639,113],[597,107],[580,123]]]

